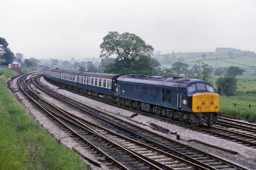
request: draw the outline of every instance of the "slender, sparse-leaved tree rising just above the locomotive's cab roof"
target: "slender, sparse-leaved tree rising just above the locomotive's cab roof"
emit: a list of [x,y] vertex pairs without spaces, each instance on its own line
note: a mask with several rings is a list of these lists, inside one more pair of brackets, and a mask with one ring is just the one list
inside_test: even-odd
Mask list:
[[211,78],[212,67],[202,61],[197,61],[193,66],[197,79],[207,81]]

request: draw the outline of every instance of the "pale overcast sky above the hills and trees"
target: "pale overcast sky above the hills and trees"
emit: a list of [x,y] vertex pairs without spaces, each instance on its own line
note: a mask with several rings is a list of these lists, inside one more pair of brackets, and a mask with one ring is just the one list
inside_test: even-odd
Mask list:
[[1,0],[0,37],[24,58],[98,58],[109,31],[155,51],[256,53],[256,0]]

